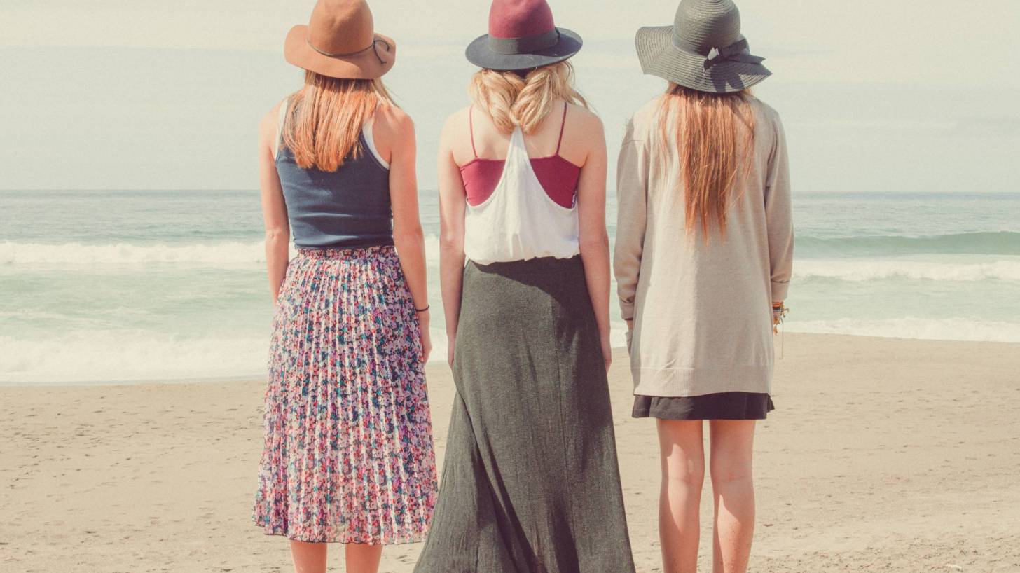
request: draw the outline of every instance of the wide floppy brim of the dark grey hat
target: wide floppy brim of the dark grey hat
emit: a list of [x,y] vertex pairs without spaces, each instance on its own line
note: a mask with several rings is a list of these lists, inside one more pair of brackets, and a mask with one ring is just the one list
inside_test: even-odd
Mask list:
[[684,88],[712,94],[732,94],[760,84],[772,74],[760,63],[721,61],[708,69],[705,56],[680,50],[673,44],[673,27],[638,30],[638,59],[646,74],[658,75]]

